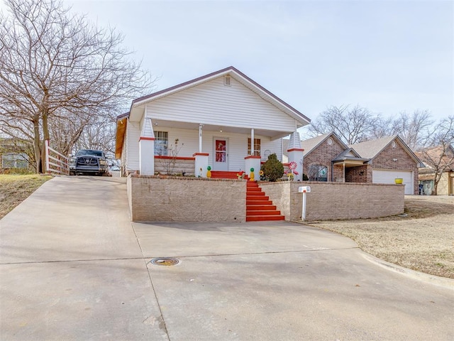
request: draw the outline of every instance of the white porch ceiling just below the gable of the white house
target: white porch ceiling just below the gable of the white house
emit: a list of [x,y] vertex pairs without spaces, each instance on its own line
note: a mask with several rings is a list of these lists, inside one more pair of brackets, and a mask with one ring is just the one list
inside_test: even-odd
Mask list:
[[[187,129],[187,130],[199,130],[199,123],[194,122],[180,122],[180,121],[164,121],[162,119],[155,120],[153,122],[153,129],[159,130],[160,127],[175,128],[175,129]],[[253,127],[252,127],[253,128]],[[218,126],[213,124],[204,124],[203,131],[219,131],[236,134],[250,134],[251,127],[246,126]],[[265,129],[254,129],[255,135],[268,136],[271,139],[279,139],[280,137],[292,134],[292,131],[275,131]]]

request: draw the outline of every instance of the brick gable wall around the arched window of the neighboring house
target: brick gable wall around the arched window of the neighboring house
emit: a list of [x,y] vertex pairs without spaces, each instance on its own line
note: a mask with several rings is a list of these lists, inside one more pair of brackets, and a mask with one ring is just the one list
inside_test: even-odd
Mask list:
[[[336,139],[333,139],[333,144],[331,144],[331,146],[328,144],[328,141],[323,141],[323,143],[315,148],[314,151],[311,151],[311,153],[304,156],[303,173],[309,176],[309,166],[311,165],[325,166],[328,171],[328,181],[334,181],[335,179],[331,178],[331,161],[342,153],[343,150],[343,147],[338,144]],[[343,173],[341,173],[341,177],[343,177]]]

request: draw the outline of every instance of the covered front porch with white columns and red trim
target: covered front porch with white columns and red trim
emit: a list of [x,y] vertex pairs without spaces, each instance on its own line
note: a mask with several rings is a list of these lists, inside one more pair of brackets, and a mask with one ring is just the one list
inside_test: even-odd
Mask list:
[[[260,164],[270,154],[277,154],[282,161],[282,136],[291,134],[292,140],[299,141],[299,134],[294,131],[182,124],[151,117],[140,123],[138,173],[141,175],[235,178],[237,173],[244,172],[250,178],[254,170],[258,178]],[[299,153],[302,153],[300,146],[292,145],[289,162],[301,165]]]

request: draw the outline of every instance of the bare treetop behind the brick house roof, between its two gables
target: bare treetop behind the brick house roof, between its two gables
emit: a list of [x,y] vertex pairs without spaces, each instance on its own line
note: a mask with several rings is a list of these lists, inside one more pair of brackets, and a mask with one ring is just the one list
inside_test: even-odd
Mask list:
[[334,131],[345,144],[357,144],[370,138],[379,121],[379,117],[358,105],[331,106],[312,121],[309,131],[312,134]]

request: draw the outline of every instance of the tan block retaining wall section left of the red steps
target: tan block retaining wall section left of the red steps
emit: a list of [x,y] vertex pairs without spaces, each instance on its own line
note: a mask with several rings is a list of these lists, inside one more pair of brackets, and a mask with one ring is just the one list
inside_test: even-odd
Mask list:
[[135,222],[245,222],[246,182],[128,176]]

